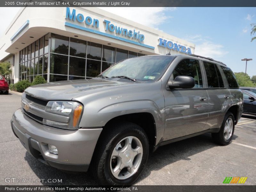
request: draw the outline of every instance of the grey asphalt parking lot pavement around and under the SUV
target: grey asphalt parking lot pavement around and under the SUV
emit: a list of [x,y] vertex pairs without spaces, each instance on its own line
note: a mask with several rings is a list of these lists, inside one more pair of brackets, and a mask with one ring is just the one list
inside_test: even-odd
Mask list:
[[[13,135],[10,119],[20,108],[20,95],[0,95],[0,185],[97,185],[90,173],[67,174],[34,157]],[[157,149],[136,185],[223,185],[225,177],[247,177],[242,185],[256,184],[256,117],[243,116],[232,143],[218,146],[210,134]],[[5,178],[40,179],[39,183],[5,182]],[[48,180],[51,179],[51,180]],[[52,183],[61,179],[61,183]],[[38,181],[38,180],[37,180]],[[227,184],[225,184],[227,185]]]

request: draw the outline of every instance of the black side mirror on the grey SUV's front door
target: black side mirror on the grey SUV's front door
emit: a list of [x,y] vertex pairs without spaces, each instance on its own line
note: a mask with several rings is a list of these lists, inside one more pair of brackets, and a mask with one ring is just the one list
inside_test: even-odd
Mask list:
[[174,88],[193,88],[195,86],[195,79],[190,76],[177,76],[174,80],[168,82],[170,89]]

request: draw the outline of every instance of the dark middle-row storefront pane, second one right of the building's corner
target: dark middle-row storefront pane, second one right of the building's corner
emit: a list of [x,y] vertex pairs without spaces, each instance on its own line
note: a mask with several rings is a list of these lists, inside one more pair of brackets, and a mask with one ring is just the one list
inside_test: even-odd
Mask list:
[[69,75],[85,76],[85,59],[70,56]]

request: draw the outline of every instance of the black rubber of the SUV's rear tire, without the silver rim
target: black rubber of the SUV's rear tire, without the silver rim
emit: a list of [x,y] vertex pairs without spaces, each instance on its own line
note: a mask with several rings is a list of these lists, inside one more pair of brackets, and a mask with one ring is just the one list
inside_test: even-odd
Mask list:
[[[233,129],[232,129],[232,133],[231,133],[231,136],[228,140],[225,139],[224,137],[224,128],[225,128],[225,124],[226,124],[226,121],[231,118],[232,119],[232,122],[233,122]],[[231,112],[228,112],[224,119],[223,119],[223,122],[222,122],[222,125],[221,125],[221,128],[220,128],[220,131],[218,133],[212,133],[212,139],[215,143],[219,144],[219,145],[228,145],[231,140],[232,140],[232,137],[233,137],[233,134],[234,134],[234,130],[235,130],[235,118],[234,118],[234,115],[233,113]]]

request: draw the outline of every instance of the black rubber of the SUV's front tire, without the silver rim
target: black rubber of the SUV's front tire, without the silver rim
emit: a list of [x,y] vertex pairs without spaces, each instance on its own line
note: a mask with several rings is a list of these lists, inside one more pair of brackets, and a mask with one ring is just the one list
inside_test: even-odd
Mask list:
[[[111,172],[111,154],[118,142],[128,136],[134,136],[140,140],[143,148],[142,160],[137,172],[127,179],[119,180],[114,177]],[[130,122],[111,124],[103,129],[94,150],[90,170],[95,179],[99,180],[101,185],[131,185],[139,178],[144,166],[146,165],[148,153],[148,137],[140,126]]]

